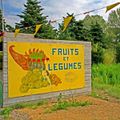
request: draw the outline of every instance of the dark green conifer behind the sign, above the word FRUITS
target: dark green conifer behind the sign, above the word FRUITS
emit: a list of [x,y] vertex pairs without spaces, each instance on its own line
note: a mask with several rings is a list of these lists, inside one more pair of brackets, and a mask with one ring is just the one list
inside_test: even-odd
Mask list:
[[[73,14],[70,15],[68,13],[67,15],[73,16]],[[66,31],[62,32],[62,29],[63,29],[63,23],[59,25],[59,39],[83,40],[83,41],[89,40],[89,32],[84,27],[82,20],[76,21],[76,19],[73,17]]]

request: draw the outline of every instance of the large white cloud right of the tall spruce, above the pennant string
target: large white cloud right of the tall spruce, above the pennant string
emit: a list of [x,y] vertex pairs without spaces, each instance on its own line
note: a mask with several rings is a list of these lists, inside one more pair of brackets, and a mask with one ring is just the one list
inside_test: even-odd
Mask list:
[[[46,4],[45,14],[48,14],[50,18],[60,18],[66,16],[66,13],[74,13],[79,14],[85,11],[89,11],[92,9],[97,9],[104,7],[106,5],[115,3],[115,0],[50,0],[48,3],[49,6]],[[115,8],[116,9],[116,8]],[[109,13],[109,12],[108,12]],[[97,11],[95,14],[99,14],[107,19],[108,13],[105,13],[105,9],[101,11]],[[94,14],[94,13],[91,13]],[[84,16],[77,17],[78,19],[83,18]]]

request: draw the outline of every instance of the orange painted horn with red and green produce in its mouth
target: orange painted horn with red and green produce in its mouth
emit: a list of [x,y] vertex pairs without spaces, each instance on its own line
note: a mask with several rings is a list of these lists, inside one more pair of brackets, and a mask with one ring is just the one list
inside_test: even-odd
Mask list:
[[49,58],[46,57],[44,52],[39,49],[29,50],[28,53],[25,52],[25,55],[17,53],[13,50],[15,46],[12,45],[9,47],[9,52],[15,62],[22,67],[23,70],[33,70],[38,68],[40,70],[45,69],[45,61],[48,61]]

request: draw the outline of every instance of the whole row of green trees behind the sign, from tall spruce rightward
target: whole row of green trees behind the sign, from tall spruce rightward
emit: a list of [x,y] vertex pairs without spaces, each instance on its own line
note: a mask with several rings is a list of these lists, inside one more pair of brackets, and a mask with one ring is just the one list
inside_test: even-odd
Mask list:
[[[111,12],[108,21],[105,21],[103,17],[99,15],[87,15],[83,20],[76,20],[73,17],[66,31],[62,32],[63,22],[59,24],[58,30],[54,29],[47,21],[47,16],[43,15],[41,2],[38,0],[27,0],[24,7],[25,10],[19,15],[21,21],[16,24],[16,27],[21,28],[22,32],[34,33],[35,25],[42,24],[41,29],[35,37],[90,41],[92,43],[93,63],[102,63],[108,60],[109,57],[106,59],[103,59],[103,57],[110,53],[110,49],[116,49],[116,58],[119,62],[120,9]],[[74,16],[68,13],[67,15]]]

